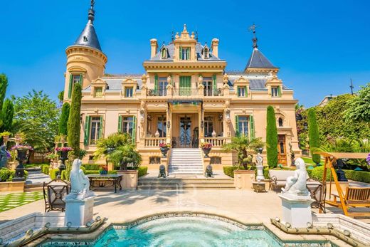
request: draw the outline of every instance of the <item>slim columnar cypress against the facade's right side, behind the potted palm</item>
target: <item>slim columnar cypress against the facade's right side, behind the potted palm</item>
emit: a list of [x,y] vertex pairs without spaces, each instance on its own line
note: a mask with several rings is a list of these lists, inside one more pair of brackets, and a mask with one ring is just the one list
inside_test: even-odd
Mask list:
[[266,151],[268,166],[277,167],[277,127],[274,107],[268,106],[266,126]]

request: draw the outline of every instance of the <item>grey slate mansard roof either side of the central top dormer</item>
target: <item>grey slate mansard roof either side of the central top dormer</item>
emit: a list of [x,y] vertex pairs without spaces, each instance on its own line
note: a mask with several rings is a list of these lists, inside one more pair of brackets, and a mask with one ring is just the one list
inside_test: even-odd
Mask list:
[[[167,58],[162,58],[162,53],[161,50],[162,48],[166,48],[167,51]],[[201,45],[201,43],[197,42],[195,49],[196,49],[196,57],[198,61],[224,61],[223,59],[217,58],[216,56],[213,56],[211,53],[211,49],[209,50],[209,58],[203,58],[202,56],[202,51],[203,51],[204,46]],[[171,42],[168,45],[164,45],[159,49],[159,52],[152,58],[146,60],[146,61],[162,61],[162,62],[172,62],[174,61],[174,51],[175,51],[175,46],[174,43]]]

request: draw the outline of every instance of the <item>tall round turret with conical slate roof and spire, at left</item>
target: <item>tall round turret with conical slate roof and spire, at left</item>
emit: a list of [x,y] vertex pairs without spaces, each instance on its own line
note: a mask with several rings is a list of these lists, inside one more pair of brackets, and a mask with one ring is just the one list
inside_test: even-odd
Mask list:
[[91,1],[88,11],[88,23],[67,54],[67,70],[65,71],[64,99],[70,99],[74,83],[82,83],[82,88],[87,88],[91,82],[104,75],[107,56],[102,52],[94,28],[95,1]]

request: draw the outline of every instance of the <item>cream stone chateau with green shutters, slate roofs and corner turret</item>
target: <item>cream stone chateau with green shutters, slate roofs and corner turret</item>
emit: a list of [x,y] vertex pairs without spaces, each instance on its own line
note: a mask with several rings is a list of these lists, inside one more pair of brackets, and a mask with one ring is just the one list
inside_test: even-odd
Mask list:
[[164,163],[171,166],[174,160],[162,159],[162,142],[171,144],[171,150],[181,150],[176,154],[182,157],[186,149],[196,151],[201,142],[210,142],[211,158],[201,155],[201,162],[221,169],[237,160],[236,154],[222,149],[231,137],[240,134],[265,141],[268,105],[276,112],[279,163],[290,166],[290,152],[300,157],[297,100],[278,78],[279,68],[258,49],[255,36],[240,73],[227,72],[217,38],[208,47],[184,25],[169,43],[150,40],[143,75],[107,75],[107,55],[98,41],[94,19],[92,6],[87,25],[65,51],[65,102],[70,101],[75,83],[83,85],[80,145],[88,151],[84,162],[93,159],[99,138],[127,132],[149,169]]

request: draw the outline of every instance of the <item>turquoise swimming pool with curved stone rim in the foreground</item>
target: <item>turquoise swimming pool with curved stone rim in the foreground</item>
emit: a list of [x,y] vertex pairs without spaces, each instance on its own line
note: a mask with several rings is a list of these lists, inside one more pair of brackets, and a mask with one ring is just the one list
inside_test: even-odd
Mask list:
[[[69,246],[71,243],[53,241],[43,246]],[[283,246],[277,236],[264,226],[245,226],[218,216],[182,215],[154,216],[127,226],[111,226],[95,241],[79,246]],[[290,246],[290,245],[287,245]],[[292,243],[292,246],[331,246],[328,242]]]

